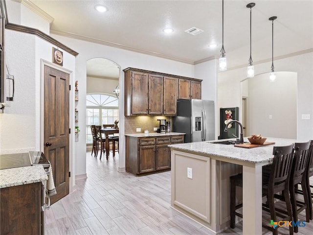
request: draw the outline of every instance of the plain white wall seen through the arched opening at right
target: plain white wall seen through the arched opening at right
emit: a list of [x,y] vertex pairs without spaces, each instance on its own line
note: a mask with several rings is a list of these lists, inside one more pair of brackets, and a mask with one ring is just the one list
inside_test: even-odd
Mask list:
[[284,139],[297,138],[297,73],[276,72],[250,77],[246,106],[246,133]]

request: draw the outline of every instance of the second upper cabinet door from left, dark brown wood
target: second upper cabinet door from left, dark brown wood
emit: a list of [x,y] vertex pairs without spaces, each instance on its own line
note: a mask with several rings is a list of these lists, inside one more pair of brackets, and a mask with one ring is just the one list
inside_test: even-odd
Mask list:
[[163,114],[163,76],[149,75],[149,114]]

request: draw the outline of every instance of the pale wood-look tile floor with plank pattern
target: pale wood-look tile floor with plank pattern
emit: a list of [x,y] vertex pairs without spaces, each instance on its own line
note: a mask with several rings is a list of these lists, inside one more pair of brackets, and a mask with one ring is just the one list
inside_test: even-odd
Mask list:
[[[170,171],[135,177],[118,172],[115,159],[86,154],[87,179],[45,212],[47,235],[213,235],[199,223],[170,208]],[[302,211],[301,216],[304,215]],[[299,219],[304,219],[302,216]],[[242,223],[221,234],[242,234]],[[313,222],[299,228],[311,235]],[[289,234],[288,230],[278,230]],[[262,234],[271,232],[263,229]]]

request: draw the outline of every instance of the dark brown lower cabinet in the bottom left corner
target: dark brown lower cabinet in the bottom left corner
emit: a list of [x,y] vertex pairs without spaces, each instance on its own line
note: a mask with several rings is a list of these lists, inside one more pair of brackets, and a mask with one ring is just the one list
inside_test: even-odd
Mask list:
[[0,189],[0,234],[41,235],[43,184],[41,182]]

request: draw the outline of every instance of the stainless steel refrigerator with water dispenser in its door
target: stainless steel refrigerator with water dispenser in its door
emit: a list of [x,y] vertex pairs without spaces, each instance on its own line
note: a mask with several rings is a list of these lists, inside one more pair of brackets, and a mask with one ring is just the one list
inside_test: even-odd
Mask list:
[[191,99],[177,101],[173,131],[186,133],[185,142],[215,139],[214,101]]

